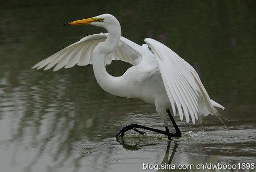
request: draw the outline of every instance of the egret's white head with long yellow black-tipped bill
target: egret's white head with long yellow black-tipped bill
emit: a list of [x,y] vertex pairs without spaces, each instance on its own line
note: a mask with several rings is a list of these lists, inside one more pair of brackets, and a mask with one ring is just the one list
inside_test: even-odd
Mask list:
[[117,18],[110,14],[103,14],[92,18],[75,20],[72,22],[65,23],[63,25],[81,25],[81,24],[91,24],[96,25],[97,27],[102,27],[108,29],[110,25],[119,24]]

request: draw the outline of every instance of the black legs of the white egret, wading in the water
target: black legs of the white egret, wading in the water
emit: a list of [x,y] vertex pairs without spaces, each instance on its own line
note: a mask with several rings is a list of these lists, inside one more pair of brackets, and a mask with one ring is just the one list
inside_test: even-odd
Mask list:
[[145,126],[142,126],[142,125],[138,125],[138,124],[131,124],[131,125],[127,125],[125,127],[123,127],[119,132],[118,134],[116,135],[116,137],[123,137],[124,136],[124,133],[126,131],[129,131],[131,129],[133,129],[134,131],[136,131],[137,133],[141,134],[141,135],[144,135],[145,132],[142,132],[142,131],[139,131],[137,128],[142,128],[142,129],[146,129],[146,130],[150,130],[150,131],[154,131],[156,133],[160,133],[160,134],[163,134],[163,135],[167,135],[168,136],[168,139],[171,139],[171,137],[181,137],[181,132],[180,132],[180,129],[178,127],[178,125],[176,124],[176,122],[174,121],[170,111],[167,109],[166,110],[170,119],[171,119],[171,122],[176,130],[176,133],[170,133],[169,131],[169,128],[168,127],[165,127],[166,131],[162,131],[162,130],[159,130],[159,129],[155,129],[155,128],[150,128],[150,127],[145,127]]

